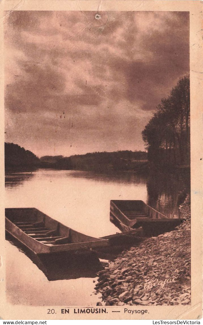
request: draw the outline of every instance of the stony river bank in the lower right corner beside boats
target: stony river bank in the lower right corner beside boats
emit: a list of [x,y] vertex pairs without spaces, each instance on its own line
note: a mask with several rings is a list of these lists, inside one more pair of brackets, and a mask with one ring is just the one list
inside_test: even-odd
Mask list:
[[98,273],[104,305],[190,304],[189,196],[180,210],[183,224],[123,251]]

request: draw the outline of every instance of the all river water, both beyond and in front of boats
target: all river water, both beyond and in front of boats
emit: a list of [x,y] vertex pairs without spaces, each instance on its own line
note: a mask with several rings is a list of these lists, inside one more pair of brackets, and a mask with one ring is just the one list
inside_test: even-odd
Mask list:
[[[178,195],[188,187],[188,175],[103,175],[38,169],[6,175],[6,207],[35,207],[79,232],[102,237],[120,232],[109,221],[110,200],[143,200],[175,217]],[[95,273],[81,273],[77,279],[63,275],[49,281],[12,240],[6,241],[6,259],[6,293],[12,304],[90,306],[101,301],[94,292]]]

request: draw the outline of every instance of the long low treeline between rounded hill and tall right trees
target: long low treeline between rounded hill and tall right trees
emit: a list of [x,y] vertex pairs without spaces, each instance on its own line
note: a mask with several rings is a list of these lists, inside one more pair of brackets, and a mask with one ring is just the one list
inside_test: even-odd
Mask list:
[[44,168],[93,170],[93,171],[129,171],[142,168],[147,163],[144,151],[93,152],[85,155],[44,156],[40,158]]

